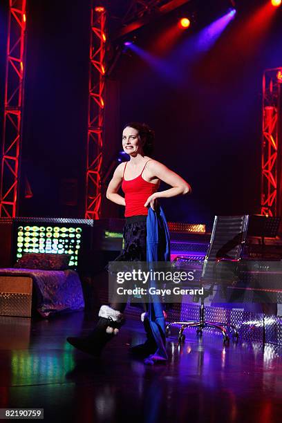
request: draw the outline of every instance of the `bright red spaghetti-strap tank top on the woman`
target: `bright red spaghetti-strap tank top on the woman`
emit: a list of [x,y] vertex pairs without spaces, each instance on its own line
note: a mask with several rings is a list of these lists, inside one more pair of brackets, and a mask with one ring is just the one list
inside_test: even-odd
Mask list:
[[128,162],[124,166],[122,175],[122,191],[124,191],[125,198],[124,217],[138,216],[140,214],[146,216],[148,214],[148,209],[144,207],[144,204],[147,198],[157,191],[157,184],[147,182],[147,180],[142,178],[142,173],[149,161],[147,160],[145,163],[140,175],[130,180],[124,179],[124,171]]

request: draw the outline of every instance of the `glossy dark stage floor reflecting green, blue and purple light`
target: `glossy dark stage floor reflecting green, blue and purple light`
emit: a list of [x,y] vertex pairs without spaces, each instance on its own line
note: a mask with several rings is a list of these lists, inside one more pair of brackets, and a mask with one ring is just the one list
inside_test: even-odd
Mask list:
[[183,346],[167,341],[167,365],[145,366],[128,354],[142,324],[127,320],[95,361],[66,342],[93,319],[0,317],[0,408],[44,408],[45,422],[282,421],[281,347],[223,346],[220,335],[190,329]]

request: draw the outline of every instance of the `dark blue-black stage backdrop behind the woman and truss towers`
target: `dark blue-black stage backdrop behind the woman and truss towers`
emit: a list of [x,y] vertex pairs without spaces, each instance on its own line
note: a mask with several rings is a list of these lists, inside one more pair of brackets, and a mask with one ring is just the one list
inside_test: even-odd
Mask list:
[[[120,1],[111,3],[116,12]],[[278,10],[250,54],[228,50],[238,21],[251,6],[256,8],[257,2],[250,1],[249,10],[238,11],[210,53],[185,61],[177,49],[183,55],[185,38],[220,17],[227,2],[190,3],[135,34],[136,45],[153,51],[154,41],[173,19],[194,12],[194,25],[174,50],[162,55],[176,64],[178,77],[169,80],[161,68],[130,51],[107,77],[104,167],[120,149],[124,124],[147,122],[156,131],[154,157],[193,188],[191,196],[162,201],[168,220],[210,225],[214,214],[260,211],[262,79],[265,68],[282,66],[282,21]],[[2,2],[0,16],[1,99],[6,5]],[[90,8],[89,0],[28,1],[21,216],[84,217]],[[116,21],[108,22],[113,36]],[[225,53],[221,57],[220,51]],[[26,178],[33,194],[29,199],[24,198]],[[67,205],[70,199],[73,205]],[[103,216],[122,213],[104,200]]]

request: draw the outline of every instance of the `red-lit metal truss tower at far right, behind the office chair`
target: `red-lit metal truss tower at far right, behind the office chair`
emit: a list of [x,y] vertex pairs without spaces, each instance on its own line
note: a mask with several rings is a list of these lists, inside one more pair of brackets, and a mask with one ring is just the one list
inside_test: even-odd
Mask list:
[[[263,142],[261,153],[261,214],[281,212],[281,75],[282,68],[263,75]],[[280,73],[280,74],[279,74]]]

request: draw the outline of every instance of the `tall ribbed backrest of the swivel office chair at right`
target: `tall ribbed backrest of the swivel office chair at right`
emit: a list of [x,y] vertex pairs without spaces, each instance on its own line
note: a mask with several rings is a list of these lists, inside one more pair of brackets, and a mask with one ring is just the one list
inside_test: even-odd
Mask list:
[[248,215],[215,216],[202,278],[214,279],[217,259],[240,260],[247,236]]

